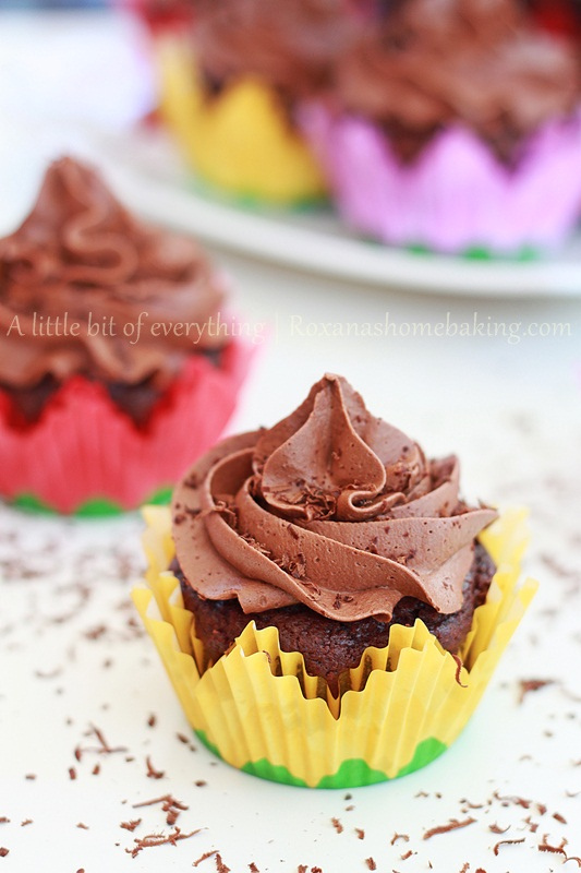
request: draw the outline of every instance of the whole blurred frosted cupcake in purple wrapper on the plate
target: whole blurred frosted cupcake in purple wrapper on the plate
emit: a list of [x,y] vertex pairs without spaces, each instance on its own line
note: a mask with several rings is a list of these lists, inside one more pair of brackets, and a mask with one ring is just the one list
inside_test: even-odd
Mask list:
[[517,0],[400,0],[303,119],[353,228],[519,253],[557,246],[580,214],[580,83],[573,41]]

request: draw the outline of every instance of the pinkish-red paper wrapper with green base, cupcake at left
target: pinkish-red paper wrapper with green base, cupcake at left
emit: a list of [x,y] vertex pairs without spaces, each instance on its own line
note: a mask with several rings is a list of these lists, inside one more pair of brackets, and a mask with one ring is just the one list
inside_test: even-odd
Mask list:
[[0,494],[29,507],[102,514],[153,494],[169,497],[184,469],[220,435],[251,351],[231,342],[219,368],[190,358],[146,428],[137,429],[105,387],[73,376],[39,421],[15,429],[0,392]]

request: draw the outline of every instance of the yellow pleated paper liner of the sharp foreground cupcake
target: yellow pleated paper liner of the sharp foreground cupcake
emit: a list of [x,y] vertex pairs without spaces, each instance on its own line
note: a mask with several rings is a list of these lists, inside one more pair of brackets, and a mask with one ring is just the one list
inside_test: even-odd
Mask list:
[[370,785],[440,755],[467,725],[536,589],[532,581],[518,586],[525,513],[512,511],[481,537],[498,569],[459,660],[422,621],[395,625],[385,648],[365,650],[336,699],[299,653],[281,651],[275,627],[251,622],[208,665],[167,570],[169,510],[146,507],[145,517],[148,589],[133,597],[190,725],[232,766],[290,785]]

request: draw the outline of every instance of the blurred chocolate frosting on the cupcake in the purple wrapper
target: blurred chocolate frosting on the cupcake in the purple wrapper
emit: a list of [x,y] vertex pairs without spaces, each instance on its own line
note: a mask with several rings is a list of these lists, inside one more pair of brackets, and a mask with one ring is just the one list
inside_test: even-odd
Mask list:
[[517,0],[406,0],[337,70],[348,110],[424,137],[460,120],[505,158],[569,115],[580,85],[573,46],[535,29]]

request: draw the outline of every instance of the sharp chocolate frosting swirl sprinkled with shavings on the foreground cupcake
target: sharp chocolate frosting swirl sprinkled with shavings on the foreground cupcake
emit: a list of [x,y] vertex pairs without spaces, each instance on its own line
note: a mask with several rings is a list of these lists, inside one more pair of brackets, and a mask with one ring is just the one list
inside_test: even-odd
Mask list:
[[462,603],[476,535],[493,510],[458,497],[456,457],[426,461],[326,375],[270,430],[231,436],[172,501],[177,559],[204,598],[245,612],[294,602],[331,619],[389,621],[406,596]]

